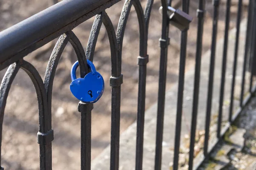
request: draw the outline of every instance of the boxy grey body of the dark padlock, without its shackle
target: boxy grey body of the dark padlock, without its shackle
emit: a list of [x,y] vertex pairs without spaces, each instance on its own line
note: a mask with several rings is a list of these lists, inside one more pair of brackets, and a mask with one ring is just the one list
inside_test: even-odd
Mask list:
[[183,31],[186,28],[189,28],[189,23],[191,23],[193,17],[177,9],[175,13],[172,13],[169,19],[170,24],[180,29],[180,31]]

